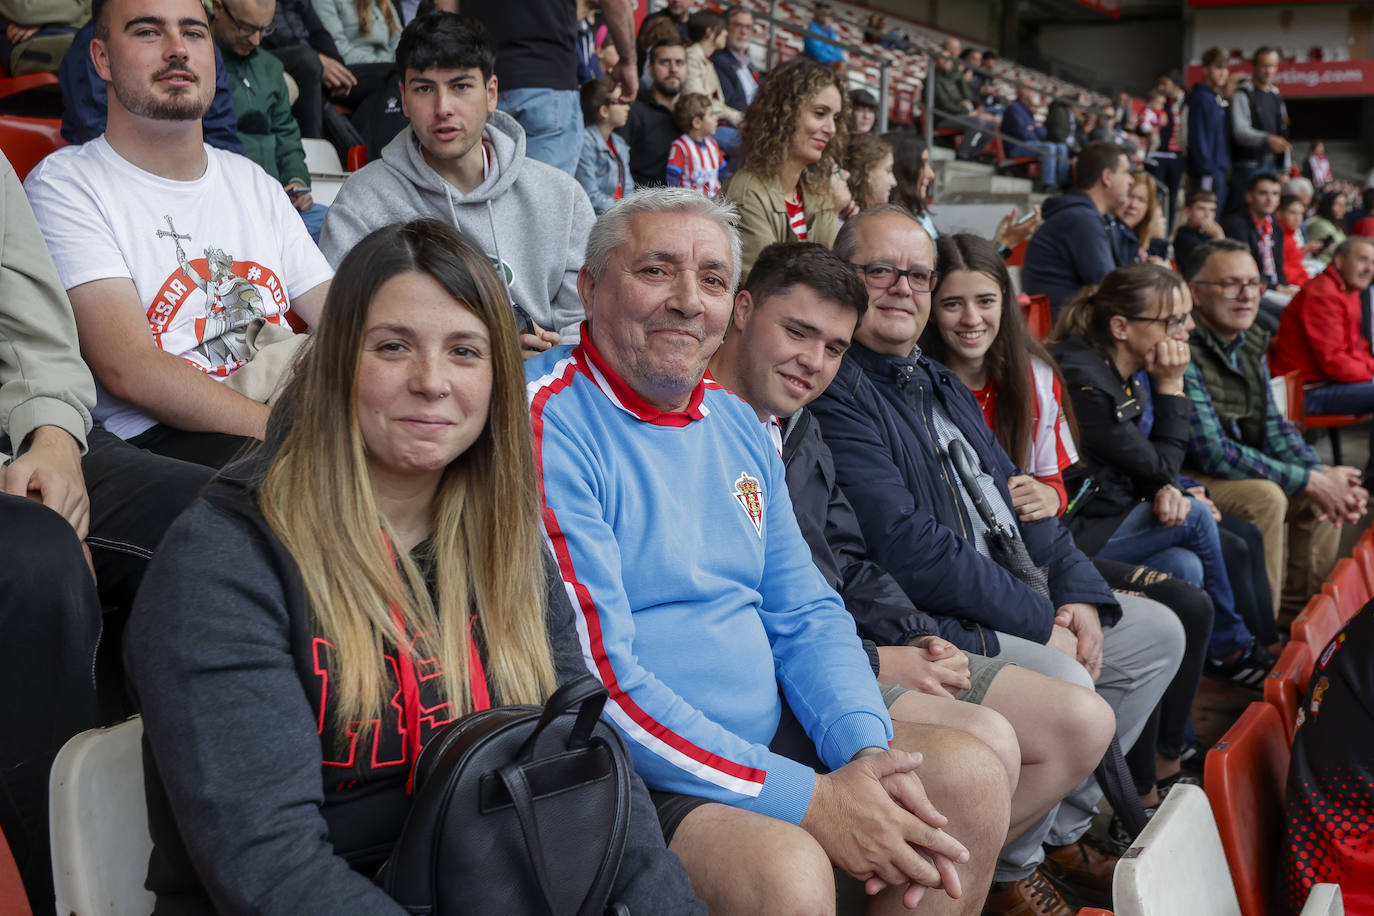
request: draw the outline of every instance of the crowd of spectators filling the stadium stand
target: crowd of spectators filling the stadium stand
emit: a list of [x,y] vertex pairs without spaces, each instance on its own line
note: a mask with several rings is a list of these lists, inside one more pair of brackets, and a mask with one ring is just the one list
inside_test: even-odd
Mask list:
[[[423,743],[588,672],[638,773],[629,912],[1109,906],[1095,768],[1145,817],[1198,784],[1202,677],[1257,688],[1369,509],[1374,438],[1325,461],[1270,383],[1374,413],[1374,191],[1297,152],[1279,54],[1109,100],[824,1],[771,69],[745,5],[458,7],[60,32],[70,146],[0,185],[34,912],[84,729],[143,717],[159,912],[401,913],[374,876]],[[837,16],[1036,196],[944,225]],[[365,151],[328,206],[302,137]]]

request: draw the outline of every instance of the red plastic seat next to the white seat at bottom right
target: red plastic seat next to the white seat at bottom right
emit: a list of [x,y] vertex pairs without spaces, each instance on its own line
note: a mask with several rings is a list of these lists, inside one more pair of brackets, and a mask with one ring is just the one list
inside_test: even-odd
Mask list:
[[1268,916],[1268,886],[1283,832],[1289,744],[1279,713],[1250,703],[1206,755],[1202,783],[1216,814],[1242,916]]

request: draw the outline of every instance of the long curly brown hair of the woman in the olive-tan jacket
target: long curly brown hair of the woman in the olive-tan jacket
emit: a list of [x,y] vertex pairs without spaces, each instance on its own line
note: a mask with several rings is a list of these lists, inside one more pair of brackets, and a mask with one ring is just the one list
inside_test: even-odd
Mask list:
[[[801,191],[807,195],[830,196],[830,176],[844,162],[849,143],[849,93],[833,70],[807,58],[789,60],[758,84],[758,95],[745,110],[743,124],[739,125],[747,151],[745,170],[765,179],[778,177],[797,133],[802,107],[826,87],[833,87],[840,93],[835,136],[826,144],[820,159],[802,170]],[[782,192],[790,194],[791,188],[783,188]]]

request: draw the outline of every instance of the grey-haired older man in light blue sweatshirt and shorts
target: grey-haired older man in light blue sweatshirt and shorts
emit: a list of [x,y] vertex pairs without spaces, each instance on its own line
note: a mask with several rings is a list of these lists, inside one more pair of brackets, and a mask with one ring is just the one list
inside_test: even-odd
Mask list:
[[587,666],[713,911],[833,909],[834,864],[882,891],[870,912],[977,913],[1009,823],[1000,761],[905,725],[894,747],[925,753],[916,779],[888,748],[870,659],[778,450],[705,378],[739,272],[732,217],[680,188],[613,206],[578,275],[581,343],[526,364]]

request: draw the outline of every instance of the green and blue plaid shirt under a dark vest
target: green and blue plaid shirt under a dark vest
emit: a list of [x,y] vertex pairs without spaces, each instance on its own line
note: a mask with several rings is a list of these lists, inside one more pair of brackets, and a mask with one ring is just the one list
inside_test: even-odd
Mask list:
[[[1231,365],[1238,365],[1237,352],[1241,338],[1227,347]],[[1270,364],[1263,361],[1264,378],[1268,379]],[[1189,437],[1189,463],[1212,477],[1230,481],[1264,478],[1283,488],[1289,496],[1297,496],[1307,488],[1307,474],[1322,468],[1316,449],[1307,444],[1301,433],[1283,419],[1274,402],[1274,390],[1264,386],[1264,442],[1260,448],[1241,442],[1238,430],[1221,426],[1216,415],[1212,394],[1202,380],[1197,363],[1189,364],[1183,375],[1183,390],[1193,402],[1191,435]]]

